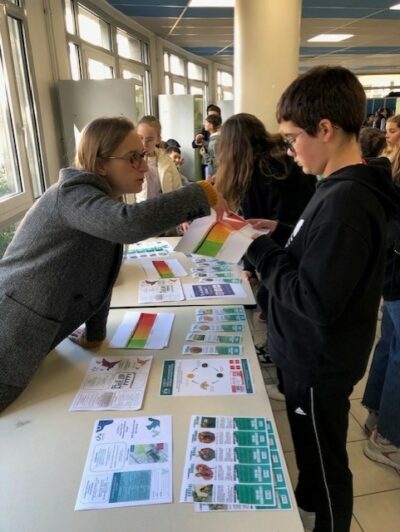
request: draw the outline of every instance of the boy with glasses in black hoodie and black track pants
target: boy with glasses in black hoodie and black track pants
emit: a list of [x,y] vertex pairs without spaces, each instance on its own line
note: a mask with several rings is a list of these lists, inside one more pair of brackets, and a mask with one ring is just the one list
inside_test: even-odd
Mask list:
[[[247,254],[270,294],[269,347],[283,372],[296,499],[309,529],[315,514],[315,532],[350,530],[349,396],[375,336],[397,196],[385,168],[361,163],[364,118],[364,90],[345,68],[316,67],[286,89],[277,119],[288,154],[322,179],[291,234],[279,222],[260,222],[272,238],[257,238]],[[285,231],[282,248],[275,240]]]

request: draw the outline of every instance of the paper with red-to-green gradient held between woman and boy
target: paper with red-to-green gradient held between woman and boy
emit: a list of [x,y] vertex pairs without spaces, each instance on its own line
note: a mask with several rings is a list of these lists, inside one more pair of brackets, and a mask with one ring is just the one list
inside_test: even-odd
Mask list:
[[213,213],[194,220],[175,247],[175,251],[238,263],[254,238],[262,234],[268,234],[268,231],[254,229],[236,214],[217,221]]

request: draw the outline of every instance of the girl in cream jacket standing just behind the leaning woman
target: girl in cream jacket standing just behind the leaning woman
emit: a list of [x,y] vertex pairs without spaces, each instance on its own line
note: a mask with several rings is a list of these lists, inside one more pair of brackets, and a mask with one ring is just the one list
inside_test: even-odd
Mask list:
[[182,186],[176,166],[161,148],[161,124],[155,116],[144,116],[136,126],[136,132],[146,152],[148,171],[143,190],[135,195],[136,202],[154,198],[164,192],[172,192]]

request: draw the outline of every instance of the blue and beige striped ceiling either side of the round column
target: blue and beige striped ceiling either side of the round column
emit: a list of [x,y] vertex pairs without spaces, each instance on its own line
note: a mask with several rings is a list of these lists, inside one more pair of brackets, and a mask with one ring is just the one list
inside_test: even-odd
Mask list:
[[[251,0],[248,0],[251,1]],[[188,0],[108,0],[164,39],[197,55],[232,65],[229,8],[190,8]],[[359,74],[400,73],[400,11],[396,0],[303,0],[300,69],[342,64]],[[309,43],[319,33],[353,33],[342,43]]]

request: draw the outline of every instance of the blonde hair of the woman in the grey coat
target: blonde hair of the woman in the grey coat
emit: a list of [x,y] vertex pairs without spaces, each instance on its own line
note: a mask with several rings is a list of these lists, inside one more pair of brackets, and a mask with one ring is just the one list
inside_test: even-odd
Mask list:
[[74,166],[96,173],[97,160],[109,157],[135,126],[124,116],[101,117],[87,124],[76,148]]

